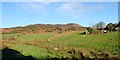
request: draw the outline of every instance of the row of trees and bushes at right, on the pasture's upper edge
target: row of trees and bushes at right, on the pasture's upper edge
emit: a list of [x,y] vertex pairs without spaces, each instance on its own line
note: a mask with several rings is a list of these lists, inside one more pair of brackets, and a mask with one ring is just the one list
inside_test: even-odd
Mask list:
[[95,25],[93,25],[92,27],[86,27],[86,29],[90,34],[97,34],[97,33],[120,31],[119,27],[120,27],[120,22],[108,23],[106,25],[103,21],[100,21]]

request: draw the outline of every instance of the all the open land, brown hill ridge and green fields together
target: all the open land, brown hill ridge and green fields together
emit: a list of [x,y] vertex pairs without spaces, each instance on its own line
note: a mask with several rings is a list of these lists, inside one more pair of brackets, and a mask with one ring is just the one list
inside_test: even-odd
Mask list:
[[[2,31],[2,50],[8,50],[3,53],[5,58],[119,59],[118,31],[84,34],[86,29],[75,23],[34,24]],[[9,50],[22,57],[12,56]]]

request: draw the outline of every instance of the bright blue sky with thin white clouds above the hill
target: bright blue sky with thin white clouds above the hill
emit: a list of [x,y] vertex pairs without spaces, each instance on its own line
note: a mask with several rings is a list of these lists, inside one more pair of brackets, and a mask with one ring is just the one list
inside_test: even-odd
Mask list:
[[3,2],[2,27],[29,24],[94,25],[118,22],[117,2]]

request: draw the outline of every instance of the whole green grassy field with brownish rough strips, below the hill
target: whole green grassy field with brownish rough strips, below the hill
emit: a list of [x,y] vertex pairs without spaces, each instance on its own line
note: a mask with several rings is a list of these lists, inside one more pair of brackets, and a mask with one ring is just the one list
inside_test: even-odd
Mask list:
[[[80,35],[80,32],[72,33],[46,33],[46,34],[3,34],[3,39],[8,39],[14,36],[16,41],[39,41],[48,40],[49,42],[42,42],[38,45],[27,44],[12,44],[5,43],[9,48],[21,52],[23,55],[31,55],[35,58],[72,58],[80,57],[78,53],[73,53],[75,49],[81,49],[89,57],[99,58],[100,56],[90,53],[94,51],[96,54],[110,54],[112,57],[118,57],[118,32],[111,32],[106,34]],[[57,36],[57,37],[56,37]],[[38,42],[39,43],[39,42]],[[55,50],[55,48],[61,49]],[[68,51],[67,51],[68,50]],[[69,53],[72,51],[72,53]]]

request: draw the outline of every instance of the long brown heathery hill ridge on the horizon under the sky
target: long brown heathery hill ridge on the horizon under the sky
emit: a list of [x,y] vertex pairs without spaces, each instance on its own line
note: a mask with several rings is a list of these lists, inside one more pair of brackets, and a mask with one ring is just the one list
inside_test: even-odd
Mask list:
[[40,33],[40,32],[65,32],[84,30],[84,27],[76,23],[68,24],[34,24],[24,27],[3,28],[2,33]]

